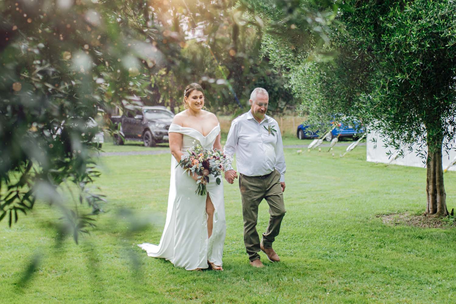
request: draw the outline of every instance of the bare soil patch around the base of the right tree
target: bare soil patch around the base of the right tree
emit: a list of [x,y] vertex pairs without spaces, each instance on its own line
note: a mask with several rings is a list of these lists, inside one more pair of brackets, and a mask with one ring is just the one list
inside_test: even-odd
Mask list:
[[420,228],[441,228],[447,229],[456,227],[454,217],[446,217],[443,219],[434,218],[431,216],[413,215],[410,213],[391,213],[379,214],[376,217],[382,219],[383,224],[389,226],[413,226]]

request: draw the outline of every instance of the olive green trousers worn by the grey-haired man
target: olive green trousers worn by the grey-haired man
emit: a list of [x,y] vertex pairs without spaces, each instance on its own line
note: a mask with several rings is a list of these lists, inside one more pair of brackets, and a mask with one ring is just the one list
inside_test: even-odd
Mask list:
[[242,216],[244,217],[244,244],[249,260],[259,259],[260,241],[256,230],[258,206],[265,199],[269,205],[269,224],[263,233],[264,248],[272,248],[275,237],[279,235],[280,224],[285,215],[285,205],[277,170],[263,176],[240,174],[239,189],[242,197]]

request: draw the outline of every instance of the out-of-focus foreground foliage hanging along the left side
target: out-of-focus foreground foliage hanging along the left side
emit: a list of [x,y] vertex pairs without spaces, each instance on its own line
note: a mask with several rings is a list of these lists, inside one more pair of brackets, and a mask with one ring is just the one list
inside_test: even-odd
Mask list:
[[134,39],[140,32],[151,41],[158,32],[139,23],[144,17],[129,10],[134,5],[145,6],[0,3],[0,220],[10,226],[40,199],[61,210],[62,233],[78,242],[102,211],[105,199],[91,186],[100,174],[91,142],[103,121],[97,127],[88,119],[130,95],[145,96],[150,76],[138,71],[163,57]]

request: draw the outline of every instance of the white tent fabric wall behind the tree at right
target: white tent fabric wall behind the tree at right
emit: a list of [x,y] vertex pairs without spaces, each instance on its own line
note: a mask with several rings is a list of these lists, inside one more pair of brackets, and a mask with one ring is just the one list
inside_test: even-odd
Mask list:
[[[376,132],[368,133],[367,134],[367,143],[366,143],[366,160],[375,162],[375,163],[385,163],[388,164],[391,161],[391,158],[394,158],[394,155],[398,152],[398,150],[394,148],[385,148],[385,141],[383,138]],[[377,144],[373,142],[372,139],[376,139]],[[456,143],[456,141],[455,141]],[[374,148],[374,146],[376,147]],[[415,147],[419,147],[420,143],[416,143],[414,145]],[[456,146],[454,144],[453,146]],[[427,151],[427,146],[426,144],[423,145],[424,151]],[[391,151],[392,155],[389,157],[386,153],[388,151]],[[456,151],[450,150],[450,151],[445,151],[442,149],[442,167],[443,169],[446,169],[448,165],[450,165],[453,160],[456,157]],[[405,149],[404,150],[404,157],[398,157],[395,160],[391,161],[391,164],[393,165],[403,165],[403,166],[413,166],[413,167],[421,167],[425,168],[426,165],[423,163],[423,160],[419,155],[417,155],[416,150],[410,152],[409,150]],[[450,167],[448,169],[449,171],[456,171],[456,165]]]

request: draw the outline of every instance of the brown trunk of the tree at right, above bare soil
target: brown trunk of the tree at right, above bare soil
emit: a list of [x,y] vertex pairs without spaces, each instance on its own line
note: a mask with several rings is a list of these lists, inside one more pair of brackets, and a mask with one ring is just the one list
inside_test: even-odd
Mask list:
[[[426,211],[425,216],[432,215],[435,217],[448,216],[446,209],[446,193],[443,185],[442,169],[442,144],[431,149],[428,140],[428,157],[426,161]],[[439,147],[440,146],[440,147]],[[434,150],[434,152],[432,152]]]

